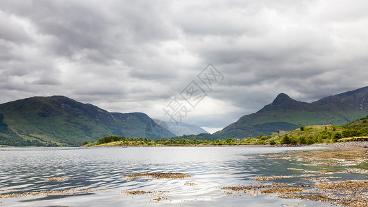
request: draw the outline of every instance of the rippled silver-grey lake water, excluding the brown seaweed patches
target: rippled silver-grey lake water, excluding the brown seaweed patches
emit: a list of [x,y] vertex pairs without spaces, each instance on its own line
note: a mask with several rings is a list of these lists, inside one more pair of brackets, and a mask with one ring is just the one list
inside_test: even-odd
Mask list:
[[[294,175],[287,168],[305,168],[299,161],[257,155],[316,147],[162,147],[162,148],[0,148],[0,193],[64,190],[77,187],[106,189],[84,195],[28,196],[0,199],[1,206],[331,206],[316,201],[280,199],[270,195],[226,195],[222,186],[273,183],[254,176]],[[142,172],[182,172],[184,179],[127,179]],[[222,172],[222,173],[218,173]],[[301,173],[301,172],[300,172]],[[50,177],[67,177],[50,181]],[[195,186],[185,185],[186,181]],[[278,179],[309,184],[307,180]],[[123,190],[162,191],[126,195]]]

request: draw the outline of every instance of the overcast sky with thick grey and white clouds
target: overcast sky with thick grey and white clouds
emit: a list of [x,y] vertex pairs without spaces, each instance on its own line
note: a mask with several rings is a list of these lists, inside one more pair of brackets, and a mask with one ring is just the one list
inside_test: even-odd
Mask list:
[[368,86],[367,10],[354,0],[2,0],[0,103],[64,95],[214,132],[280,92],[312,102]]

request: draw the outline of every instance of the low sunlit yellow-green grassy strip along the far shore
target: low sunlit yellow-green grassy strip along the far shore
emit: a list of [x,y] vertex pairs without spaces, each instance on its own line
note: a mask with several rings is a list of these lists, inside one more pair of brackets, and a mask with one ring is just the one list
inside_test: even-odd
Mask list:
[[[112,141],[104,144],[97,142],[88,144],[86,146],[226,146],[226,145],[242,145],[242,144],[284,144],[285,137],[289,137],[289,144],[318,144],[318,143],[331,143],[333,141],[354,141],[354,138],[336,138],[335,135],[343,135],[344,131],[354,127],[367,127],[368,116],[352,121],[345,126],[333,126],[333,125],[311,125],[301,128],[296,128],[291,131],[281,132],[280,135],[274,134],[269,136],[247,137],[242,140],[236,139],[222,139],[214,140],[208,134],[202,134],[206,137],[204,140],[197,139],[195,135],[175,137],[174,139],[162,139],[162,140],[120,140]],[[354,128],[356,130],[356,128]],[[367,136],[367,130],[365,131]],[[202,138],[204,138],[202,137]],[[102,142],[103,143],[103,142]]]

